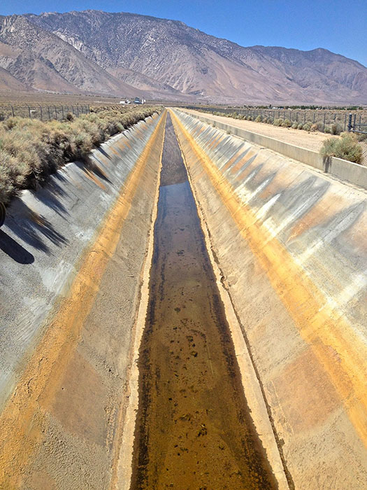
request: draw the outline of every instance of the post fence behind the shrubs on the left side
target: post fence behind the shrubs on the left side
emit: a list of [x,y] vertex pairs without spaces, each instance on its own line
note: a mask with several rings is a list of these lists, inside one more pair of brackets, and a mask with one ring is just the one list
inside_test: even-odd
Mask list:
[[21,118],[43,120],[62,120],[66,119],[68,113],[73,116],[89,114],[89,105],[75,104],[71,106],[51,106],[45,104],[37,105],[3,105],[0,106],[0,121],[8,118],[20,116]]

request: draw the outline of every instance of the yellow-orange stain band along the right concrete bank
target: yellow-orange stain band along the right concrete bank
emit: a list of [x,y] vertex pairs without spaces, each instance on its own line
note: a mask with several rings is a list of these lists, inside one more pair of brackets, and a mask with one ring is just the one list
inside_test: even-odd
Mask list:
[[187,161],[199,159],[211,183],[229,210],[254,257],[293,318],[301,336],[312,347],[329,375],[359,437],[367,447],[367,349],[343,315],[343,307],[330,303],[278,239],[269,236],[249,206],[240,202],[231,184],[201,150],[171,112]]

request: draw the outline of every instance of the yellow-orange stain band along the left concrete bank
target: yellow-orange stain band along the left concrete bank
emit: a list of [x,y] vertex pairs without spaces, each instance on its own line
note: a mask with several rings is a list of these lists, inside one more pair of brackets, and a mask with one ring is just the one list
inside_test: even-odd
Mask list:
[[48,409],[63,374],[73,357],[80,331],[92,308],[103,272],[120,239],[124,220],[141,176],[152,158],[160,155],[164,134],[163,116],[143,153],[131,170],[126,185],[103,222],[96,240],[85,252],[67,297],[43,327],[43,337],[31,354],[3,412],[0,414],[0,488],[18,489],[47,427]]

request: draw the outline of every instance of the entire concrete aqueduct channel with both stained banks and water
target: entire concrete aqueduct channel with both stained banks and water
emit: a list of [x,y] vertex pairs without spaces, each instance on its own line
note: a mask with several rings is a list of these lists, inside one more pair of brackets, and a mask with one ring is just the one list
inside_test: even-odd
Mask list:
[[0,230],[0,488],[366,489],[366,190],[177,109]]

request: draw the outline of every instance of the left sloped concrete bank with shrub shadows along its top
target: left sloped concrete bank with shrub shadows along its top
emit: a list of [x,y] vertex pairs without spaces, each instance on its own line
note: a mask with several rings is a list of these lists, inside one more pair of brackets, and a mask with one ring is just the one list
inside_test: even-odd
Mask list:
[[0,487],[104,489],[118,457],[164,137],[154,115],[0,230]]

